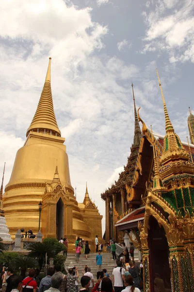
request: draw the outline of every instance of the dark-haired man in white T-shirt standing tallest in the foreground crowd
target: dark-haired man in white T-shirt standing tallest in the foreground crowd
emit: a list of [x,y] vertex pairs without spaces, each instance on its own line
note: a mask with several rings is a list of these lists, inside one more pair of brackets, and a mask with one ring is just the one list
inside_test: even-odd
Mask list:
[[113,269],[113,286],[114,292],[121,292],[124,288],[125,269],[122,268],[122,262],[117,262],[117,267]]

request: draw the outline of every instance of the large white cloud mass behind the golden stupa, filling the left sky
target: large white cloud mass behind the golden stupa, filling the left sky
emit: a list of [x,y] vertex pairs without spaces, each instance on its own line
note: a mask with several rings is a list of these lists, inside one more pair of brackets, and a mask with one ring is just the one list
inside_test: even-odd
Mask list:
[[[8,183],[16,150],[24,143],[51,61],[54,110],[66,138],[72,186],[83,201],[85,181],[102,215],[100,193],[112,169],[126,163],[129,152],[129,92],[119,85],[139,74],[139,68],[116,57],[100,58],[108,29],[91,19],[91,9],[65,1],[4,1],[0,26],[1,155],[9,164]],[[5,19],[9,19],[5,25]],[[122,118],[120,115],[122,111]],[[6,133],[6,134],[5,134]],[[112,147],[112,141],[117,141]],[[121,150],[121,148],[123,150]],[[116,155],[121,151],[120,155]],[[11,155],[10,155],[11,153]],[[115,178],[116,179],[116,178]],[[104,222],[105,219],[103,219]],[[103,225],[104,230],[104,225]]]

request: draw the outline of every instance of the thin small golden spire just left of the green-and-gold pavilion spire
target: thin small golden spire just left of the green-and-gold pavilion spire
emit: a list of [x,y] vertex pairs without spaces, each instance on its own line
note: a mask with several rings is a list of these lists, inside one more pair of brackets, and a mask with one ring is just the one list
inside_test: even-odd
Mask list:
[[152,138],[153,153],[154,153],[154,179],[153,179],[152,192],[167,191],[167,189],[163,186],[162,178],[159,174],[158,160],[156,157],[156,144],[153,137],[152,125],[150,125],[150,127],[151,127],[151,138]]

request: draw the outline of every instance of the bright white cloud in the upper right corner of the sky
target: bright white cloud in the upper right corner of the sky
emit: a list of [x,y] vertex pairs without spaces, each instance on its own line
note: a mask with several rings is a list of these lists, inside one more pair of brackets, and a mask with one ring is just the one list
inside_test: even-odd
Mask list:
[[194,1],[157,1],[155,10],[142,15],[147,30],[141,53],[165,51],[172,63],[194,62]]

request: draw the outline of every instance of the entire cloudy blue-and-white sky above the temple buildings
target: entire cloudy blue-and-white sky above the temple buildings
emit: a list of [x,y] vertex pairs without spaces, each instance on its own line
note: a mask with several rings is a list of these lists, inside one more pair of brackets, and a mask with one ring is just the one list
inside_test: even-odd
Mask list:
[[[6,0],[0,9],[0,170],[8,183],[51,60],[51,88],[72,186],[85,182],[105,229],[100,194],[127,163],[134,133],[131,82],[149,127],[165,134],[156,68],[182,141],[194,110],[193,0]],[[141,126],[141,125],[140,125]]]

